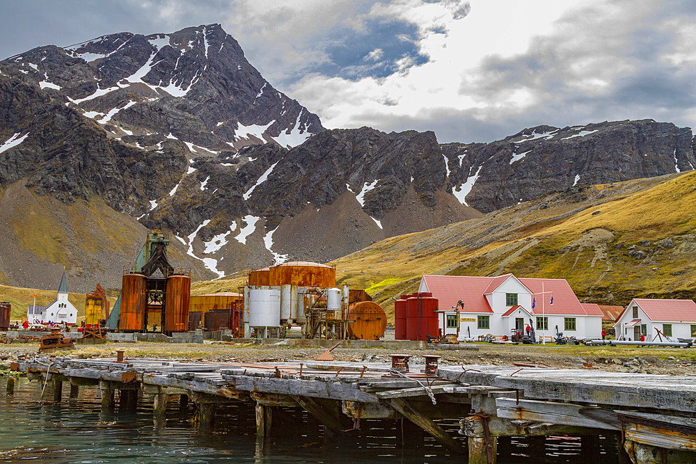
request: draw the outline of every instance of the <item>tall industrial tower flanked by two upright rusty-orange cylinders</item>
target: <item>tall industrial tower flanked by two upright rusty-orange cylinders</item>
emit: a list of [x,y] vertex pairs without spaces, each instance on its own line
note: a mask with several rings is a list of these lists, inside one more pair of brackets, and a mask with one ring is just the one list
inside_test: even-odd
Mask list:
[[135,266],[124,269],[121,293],[106,326],[125,332],[189,330],[191,270],[169,264],[168,244],[164,232],[148,233]]

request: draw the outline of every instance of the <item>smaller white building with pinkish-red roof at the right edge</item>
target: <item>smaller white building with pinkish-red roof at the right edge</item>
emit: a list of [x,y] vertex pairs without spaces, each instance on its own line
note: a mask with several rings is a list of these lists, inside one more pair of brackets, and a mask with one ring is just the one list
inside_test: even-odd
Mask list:
[[[633,298],[614,323],[616,338],[648,342],[663,341],[658,330],[675,339],[696,337],[696,303],[691,300]],[[657,330],[655,330],[657,329]]]

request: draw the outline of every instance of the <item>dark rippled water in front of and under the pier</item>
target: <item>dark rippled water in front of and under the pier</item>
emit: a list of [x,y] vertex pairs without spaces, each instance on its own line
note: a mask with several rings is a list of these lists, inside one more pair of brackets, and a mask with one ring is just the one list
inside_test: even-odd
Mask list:
[[[193,405],[180,410],[176,402],[170,403],[166,424],[158,424],[152,420],[149,397],[139,400],[135,412],[121,411],[116,406],[113,415],[104,416],[100,413],[100,392],[95,387],[81,387],[79,397],[69,399],[70,389],[65,385],[63,401],[54,403],[50,383],[41,399],[35,382],[21,378],[10,397],[5,382],[0,378],[0,462],[466,462],[466,453],[450,455],[429,437],[409,437],[404,443],[404,435],[397,429],[400,421],[363,420],[361,431],[337,440],[324,437],[321,427],[306,414],[297,417],[274,413],[274,430],[280,436],[260,447],[255,438],[254,408],[248,405],[220,406],[212,431],[200,431],[191,422]],[[461,440],[466,451],[466,440],[457,435],[458,422],[441,425]],[[599,444],[593,456],[583,456],[580,440],[547,438],[543,451],[546,456],[535,456],[539,450],[531,449],[524,438],[512,439],[498,462],[579,463],[587,458],[596,463],[616,462],[615,448],[612,450],[615,442],[602,438]],[[531,460],[530,454],[534,456]]]

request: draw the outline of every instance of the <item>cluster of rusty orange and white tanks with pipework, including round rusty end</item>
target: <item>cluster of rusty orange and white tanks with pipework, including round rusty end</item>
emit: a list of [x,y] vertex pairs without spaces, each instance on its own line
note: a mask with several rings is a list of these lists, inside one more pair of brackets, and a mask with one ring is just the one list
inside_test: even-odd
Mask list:
[[286,262],[249,273],[244,287],[244,335],[379,339],[386,314],[363,290],[336,286],[336,270]]

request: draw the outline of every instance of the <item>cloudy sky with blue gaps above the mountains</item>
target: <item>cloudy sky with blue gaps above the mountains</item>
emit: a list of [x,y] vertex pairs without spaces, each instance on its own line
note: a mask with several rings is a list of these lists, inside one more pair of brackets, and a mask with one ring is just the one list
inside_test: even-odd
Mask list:
[[328,128],[485,142],[541,124],[696,127],[689,0],[0,0],[0,57],[210,23]]

